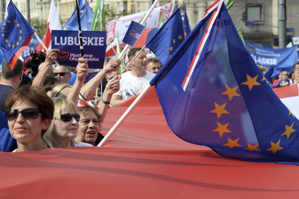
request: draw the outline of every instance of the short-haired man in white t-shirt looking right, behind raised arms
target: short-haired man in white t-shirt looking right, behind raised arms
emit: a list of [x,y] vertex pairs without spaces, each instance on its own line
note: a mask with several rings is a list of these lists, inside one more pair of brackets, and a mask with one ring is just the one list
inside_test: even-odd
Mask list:
[[[132,48],[129,53],[129,62],[135,57],[135,55],[141,50],[141,48]],[[154,73],[146,71],[147,68],[147,56],[145,50],[143,50],[136,59],[131,63],[132,70],[121,75],[120,90],[113,94],[111,99],[111,105],[116,106],[125,100],[133,97],[139,93],[148,85],[150,80],[155,76]]]

